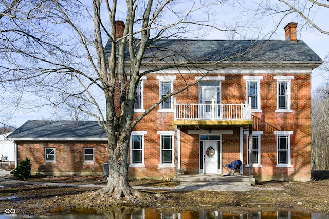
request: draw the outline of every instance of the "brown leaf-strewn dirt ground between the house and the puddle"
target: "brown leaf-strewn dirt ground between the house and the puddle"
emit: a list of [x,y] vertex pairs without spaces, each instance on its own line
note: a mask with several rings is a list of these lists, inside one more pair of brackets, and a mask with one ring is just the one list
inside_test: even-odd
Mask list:
[[[44,182],[48,184],[36,184]],[[33,184],[31,184],[33,183]],[[90,187],[59,186],[93,184]],[[20,215],[68,213],[74,209],[92,212],[110,211],[123,206],[151,207],[159,212],[182,210],[216,210],[223,213],[255,211],[299,211],[329,213],[329,171],[313,173],[309,182],[257,182],[246,191],[182,191],[172,181],[134,180],[131,186],[168,187],[166,190],[138,190],[139,200],[114,201],[111,197],[94,196],[106,184],[102,176],[67,176],[32,178],[17,182],[0,177],[0,210],[15,209]],[[171,189],[170,189],[171,188]],[[38,212],[38,213],[36,213]]]

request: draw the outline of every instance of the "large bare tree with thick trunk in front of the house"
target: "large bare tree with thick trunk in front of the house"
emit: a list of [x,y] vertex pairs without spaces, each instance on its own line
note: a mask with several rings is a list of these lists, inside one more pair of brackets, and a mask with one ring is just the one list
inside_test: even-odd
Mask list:
[[[200,37],[204,34],[200,31],[203,26],[235,31],[225,25],[216,28],[207,16],[213,13],[214,6],[226,1],[206,1],[204,5],[187,2],[127,0],[123,4],[94,0],[88,5],[82,1],[22,0],[14,1],[14,7],[7,7],[14,10],[2,14],[0,82],[8,99],[13,107],[30,109],[49,105],[57,111],[66,105],[98,121],[108,135],[111,166],[111,177],[101,193],[117,198],[138,196],[127,181],[131,132],[164,99],[190,86],[163,96],[134,118],[136,88],[143,75],[194,65],[193,60],[184,58],[142,70],[145,51],[159,39],[182,39],[192,36],[193,31],[198,34],[194,36]],[[200,14],[194,18],[194,13],[200,11],[206,14],[205,19]],[[165,14],[170,19],[164,18]],[[125,21],[119,30],[117,17]],[[123,35],[118,37],[118,31]],[[107,41],[109,51],[104,48]],[[38,98],[24,102],[24,95],[29,93]]]

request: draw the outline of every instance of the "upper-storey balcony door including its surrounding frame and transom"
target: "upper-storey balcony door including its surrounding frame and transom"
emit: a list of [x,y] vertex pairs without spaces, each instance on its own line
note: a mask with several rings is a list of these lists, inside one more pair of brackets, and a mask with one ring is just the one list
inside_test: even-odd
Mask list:
[[200,83],[200,117],[204,120],[210,120],[217,117],[217,107],[213,109],[212,100],[215,104],[220,103],[220,83],[208,82]]

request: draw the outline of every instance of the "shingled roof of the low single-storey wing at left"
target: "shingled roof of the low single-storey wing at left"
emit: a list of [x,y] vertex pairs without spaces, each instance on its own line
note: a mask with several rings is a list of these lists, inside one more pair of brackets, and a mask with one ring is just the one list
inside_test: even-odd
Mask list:
[[29,120],[12,132],[14,140],[107,140],[107,134],[97,121]]

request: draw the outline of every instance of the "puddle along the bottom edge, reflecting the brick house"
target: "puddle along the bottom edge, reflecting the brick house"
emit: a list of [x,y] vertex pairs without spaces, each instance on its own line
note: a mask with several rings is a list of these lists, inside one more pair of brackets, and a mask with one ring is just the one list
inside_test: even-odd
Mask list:
[[[102,214],[96,214],[94,209],[70,209],[65,210],[63,207],[56,207],[52,209],[52,213],[61,214],[53,216],[19,216],[19,215],[0,215],[0,219],[12,219],[12,218],[53,218],[53,219],[76,219],[76,218],[131,218],[131,219],[225,219],[225,218],[257,218],[257,219],[329,219],[329,214],[320,213],[303,213],[293,211],[261,211],[252,212],[249,214],[231,214],[222,213],[220,211],[181,211],[176,213],[160,213],[156,209],[144,208],[144,209],[116,209],[111,212],[104,212]],[[63,214],[67,213],[67,214]]]

